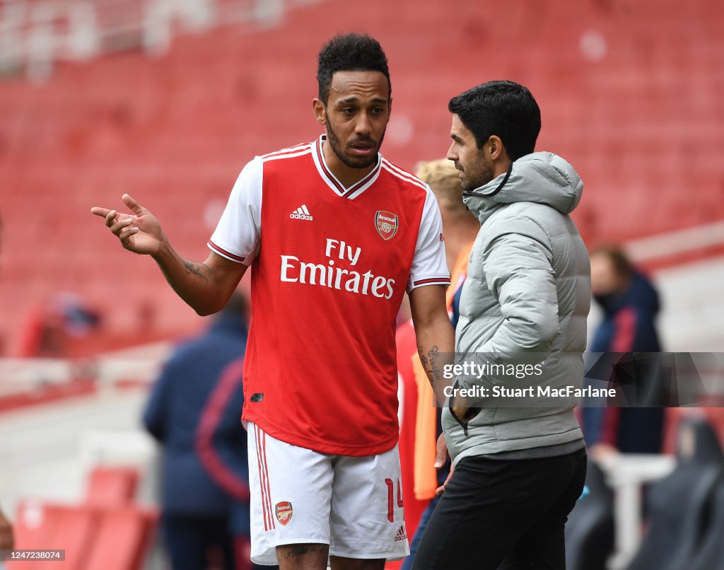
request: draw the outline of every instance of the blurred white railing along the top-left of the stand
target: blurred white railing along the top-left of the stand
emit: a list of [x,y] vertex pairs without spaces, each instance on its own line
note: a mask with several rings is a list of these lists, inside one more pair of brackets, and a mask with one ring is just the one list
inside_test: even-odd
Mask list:
[[159,55],[174,35],[252,22],[279,25],[324,0],[0,0],[0,74],[41,83],[59,60],[127,49]]

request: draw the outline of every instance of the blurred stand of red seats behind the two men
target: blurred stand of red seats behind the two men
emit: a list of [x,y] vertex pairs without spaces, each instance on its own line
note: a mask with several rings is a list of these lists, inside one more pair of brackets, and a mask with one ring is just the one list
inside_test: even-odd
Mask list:
[[509,77],[545,109],[539,148],[566,156],[586,180],[577,222],[589,243],[716,222],[723,10],[712,0],[686,10],[674,0],[591,0],[576,11],[563,0],[518,0],[492,20],[478,4],[372,0],[356,11],[327,1],[272,27],[182,35],[155,57],[117,51],[61,62],[40,85],[6,73],[6,352],[16,351],[14,333],[33,304],[59,290],[100,307],[109,331],[197,327],[153,264],[120,251],[88,209],[131,192],[164,219],[180,251],[205,256],[240,167],[316,132],[314,55],[334,30],[368,30],[387,49],[395,112],[385,152],[401,165],[445,151],[450,95]]

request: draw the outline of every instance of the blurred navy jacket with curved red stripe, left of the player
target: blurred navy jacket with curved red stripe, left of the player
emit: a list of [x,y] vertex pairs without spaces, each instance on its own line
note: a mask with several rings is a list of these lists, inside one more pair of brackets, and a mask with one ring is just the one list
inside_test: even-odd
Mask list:
[[222,315],[180,345],[153,386],[143,424],[163,448],[161,508],[176,516],[230,517],[248,534],[243,354],[247,328]]

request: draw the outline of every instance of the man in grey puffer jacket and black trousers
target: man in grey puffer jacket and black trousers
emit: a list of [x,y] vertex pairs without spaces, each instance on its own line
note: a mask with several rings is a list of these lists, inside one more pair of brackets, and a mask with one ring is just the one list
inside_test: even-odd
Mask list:
[[[447,158],[481,223],[460,297],[458,362],[463,354],[526,374],[455,376],[453,388],[483,397],[450,398],[443,411],[455,471],[414,569],[565,569],[565,520],[586,477],[573,408],[590,269],[568,215],[583,182],[560,156],[534,152],[540,110],[522,85],[484,83],[449,109]],[[541,396],[538,387],[558,396]]]

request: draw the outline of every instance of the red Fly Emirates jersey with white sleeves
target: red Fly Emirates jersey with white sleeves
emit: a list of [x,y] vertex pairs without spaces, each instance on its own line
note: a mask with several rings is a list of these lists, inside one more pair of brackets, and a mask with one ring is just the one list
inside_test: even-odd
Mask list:
[[395,315],[405,290],[449,285],[432,191],[378,156],[345,188],[313,143],[241,172],[209,247],[251,264],[243,419],[321,453],[397,442]]

